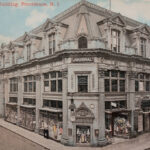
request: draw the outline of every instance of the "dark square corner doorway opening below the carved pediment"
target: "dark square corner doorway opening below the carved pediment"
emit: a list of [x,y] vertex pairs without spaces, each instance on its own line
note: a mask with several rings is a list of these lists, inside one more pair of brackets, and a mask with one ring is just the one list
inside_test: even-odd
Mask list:
[[76,126],[76,143],[90,144],[90,126]]

